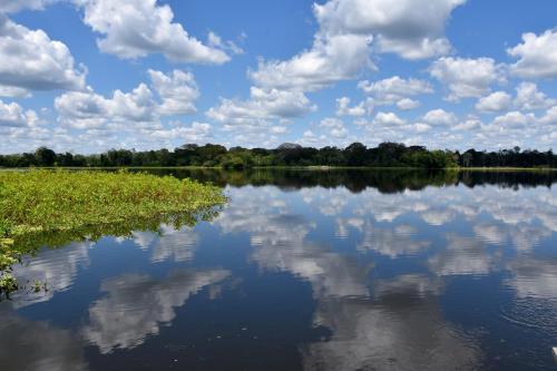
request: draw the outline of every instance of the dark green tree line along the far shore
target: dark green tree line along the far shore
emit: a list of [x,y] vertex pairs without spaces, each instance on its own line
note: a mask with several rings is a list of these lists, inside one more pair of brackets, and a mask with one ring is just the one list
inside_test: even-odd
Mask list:
[[40,147],[33,153],[0,155],[0,167],[120,167],[120,166],[205,166],[244,169],[268,166],[351,166],[351,167],[556,167],[553,150],[521,150],[519,147],[498,152],[468,149],[429,150],[423,146],[382,143],[367,147],[353,143],[345,148],[302,147],[283,144],[274,149],[226,148],[221,145],[186,144],[174,150],[110,149],[102,154],[78,155],[56,153]]

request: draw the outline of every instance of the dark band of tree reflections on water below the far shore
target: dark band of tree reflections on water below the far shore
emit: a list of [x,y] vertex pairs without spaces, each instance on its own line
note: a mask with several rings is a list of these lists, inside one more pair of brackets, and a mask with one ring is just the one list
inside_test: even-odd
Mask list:
[[255,168],[245,172],[226,172],[211,168],[152,170],[192,177],[225,186],[274,185],[281,189],[306,187],[345,187],[352,193],[375,188],[381,193],[419,191],[427,186],[442,187],[465,184],[468,187],[497,185],[504,188],[547,186],[557,182],[557,172],[457,172],[424,169],[292,169]]

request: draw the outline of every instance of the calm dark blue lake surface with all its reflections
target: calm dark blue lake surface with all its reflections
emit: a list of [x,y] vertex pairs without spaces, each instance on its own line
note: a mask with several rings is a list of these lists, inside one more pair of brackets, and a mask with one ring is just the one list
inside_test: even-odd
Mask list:
[[556,368],[555,174],[167,173],[231,202],[27,258],[1,370]]

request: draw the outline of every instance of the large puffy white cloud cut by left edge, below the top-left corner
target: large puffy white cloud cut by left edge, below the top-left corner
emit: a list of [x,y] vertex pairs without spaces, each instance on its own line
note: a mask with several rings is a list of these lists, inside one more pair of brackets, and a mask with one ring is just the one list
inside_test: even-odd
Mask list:
[[30,30],[0,14],[0,92],[25,96],[28,90],[82,89],[68,47],[42,30]]

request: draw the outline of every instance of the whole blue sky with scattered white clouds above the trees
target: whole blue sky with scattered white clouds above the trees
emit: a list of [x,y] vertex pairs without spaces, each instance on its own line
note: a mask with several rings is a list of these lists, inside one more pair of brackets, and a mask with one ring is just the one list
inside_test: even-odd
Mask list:
[[0,153],[557,145],[555,0],[0,0]]

